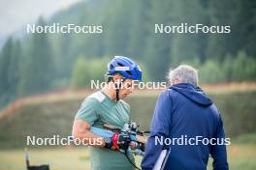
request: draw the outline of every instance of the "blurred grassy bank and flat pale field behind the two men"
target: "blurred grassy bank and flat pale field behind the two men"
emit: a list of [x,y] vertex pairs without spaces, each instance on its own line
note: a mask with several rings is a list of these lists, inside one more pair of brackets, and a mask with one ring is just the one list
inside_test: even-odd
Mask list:
[[[206,86],[204,89],[218,106],[227,137],[231,170],[256,169],[256,83]],[[25,170],[26,136],[51,137],[71,134],[80,102],[90,91],[65,91],[17,99],[0,113],[0,170]],[[131,105],[131,120],[142,130],[150,125],[159,91],[139,91],[127,99]],[[146,104],[145,104],[146,103]],[[234,139],[234,140],[233,140]],[[86,148],[29,149],[33,165],[50,165],[50,170],[87,170],[89,156]],[[184,157],[185,158],[185,157]],[[140,157],[137,164],[140,164]],[[212,169],[211,160],[208,169]]]

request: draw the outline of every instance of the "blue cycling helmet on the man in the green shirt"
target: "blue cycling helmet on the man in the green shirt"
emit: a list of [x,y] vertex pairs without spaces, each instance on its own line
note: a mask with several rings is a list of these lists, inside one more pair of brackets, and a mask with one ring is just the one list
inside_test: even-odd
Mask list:
[[142,81],[142,71],[134,61],[124,56],[114,56],[108,65],[109,73],[120,73],[124,78]]

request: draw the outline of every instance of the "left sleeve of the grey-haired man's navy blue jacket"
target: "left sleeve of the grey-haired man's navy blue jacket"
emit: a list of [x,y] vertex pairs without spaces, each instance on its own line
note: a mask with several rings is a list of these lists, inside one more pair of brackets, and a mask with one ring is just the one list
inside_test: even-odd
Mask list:
[[[156,102],[150,127],[150,135],[145,147],[145,155],[142,161],[143,170],[151,170],[154,167],[154,164],[164,147],[159,141],[161,138],[164,140],[169,136],[171,127],[171,109],[172,100],[169,97],[169,92],[162,92]],[[157,140],[157,138],[159,140]]]

